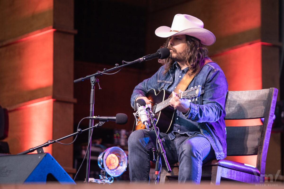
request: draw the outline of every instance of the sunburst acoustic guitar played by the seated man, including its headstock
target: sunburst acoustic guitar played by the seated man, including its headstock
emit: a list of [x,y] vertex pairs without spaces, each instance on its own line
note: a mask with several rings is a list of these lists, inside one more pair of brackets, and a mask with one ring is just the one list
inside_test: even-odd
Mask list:
[[[200,96],[201,87],[191,88],[177,94],[181,99],[197,99]],[[158,94],[156,90],[150,89],[146,93],[146,97],[151,100],[151,110],[154,113],[154,118],[156,118],[156,126],[160,129],[160,132],[167,133],[172,126],[174,111],[175,109],[170,106],[170,99],[172,98],[164,89],[162,89]],[[137,121],[138,120],[138,121]],[[138,129],[145,129],[145,125],[141,122],[139,117],[135,120],[133,131]]]

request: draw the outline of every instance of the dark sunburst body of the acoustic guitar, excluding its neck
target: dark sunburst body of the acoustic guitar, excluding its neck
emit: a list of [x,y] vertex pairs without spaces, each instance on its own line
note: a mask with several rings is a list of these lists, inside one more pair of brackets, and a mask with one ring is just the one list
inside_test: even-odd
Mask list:
[[[156,93],[156,90],[150,89],[147,92],[146,97],[152,102],[154,102],[151,104],[153,107],[155,104],[161,103],[164,100],[168,99],[169,94],[167,94],[164,89],[162,89],[158,94]],[[172,119],[174,117],[174,111],[175,109],[173,107],[168,106],[155,114],[154,118],[157,119],[156,126],[160,129],[160,132],[167,133],[170,130],[170,126],[172,125]],[[139,121],[136,125],[135,120],[133,131],[145,128],[145,125],[142,124],[141,121]]]

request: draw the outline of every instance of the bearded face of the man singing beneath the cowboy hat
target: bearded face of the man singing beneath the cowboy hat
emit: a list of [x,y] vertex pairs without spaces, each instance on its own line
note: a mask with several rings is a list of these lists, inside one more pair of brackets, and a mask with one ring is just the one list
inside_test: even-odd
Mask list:
[[179,63],[184,62],[188,55],[188,47],[185,35],[173,35],[168,44],[170,58]]

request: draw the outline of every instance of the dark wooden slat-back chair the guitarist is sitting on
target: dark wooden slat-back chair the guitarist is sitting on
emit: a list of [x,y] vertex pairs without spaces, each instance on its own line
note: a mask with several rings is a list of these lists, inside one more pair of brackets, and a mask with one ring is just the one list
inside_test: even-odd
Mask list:
[[[202,177],[211,177],[211,184],[220,179],[247,183],[264,182],[266,154],[278,90],[276,88],[252,91],[228,91],[225,119],[264,118],[263,125],[226,127],[227,156],[257,155],[256,167],[230,160],[212,160],[202,165]],[[160,183],[178,177],[178,163],[168,173],[163,167]]]

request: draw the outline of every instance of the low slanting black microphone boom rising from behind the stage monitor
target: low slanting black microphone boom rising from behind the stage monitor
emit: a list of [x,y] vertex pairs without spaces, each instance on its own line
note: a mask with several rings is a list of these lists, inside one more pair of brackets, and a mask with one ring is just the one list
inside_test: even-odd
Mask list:
[[[72,133],[72,134],[67,135],[67,136],[65,136],[65,137],[62,137],[62,138],[60,138],[60,139],[56,139],[56,140],[52,140],[52,141],[48,140],[46,143],[43,143],[42,145],[36,146],[36,147],[34,147],[34,148],[30,148],[30,149],[28,149],[28,150],[26,150],[26,151],[24,151],[24,152],[18,153],[17,155],[28,154],[28,153],[30,153],[30,152],[34,152],[35,150],[37,150],[37,153],[38,153],[38,154],[44,153],[44,152],[43,152],[43,149],[42,149],[43,147],[47,147],[47,146],[49,146],[49,145],[51,145],[51,144],[53,144],[53,143],[56,143],[57,141],[61,141],[61,140],[67,139],[67,138],[69,138],[69,137],[72,137],[72,136],[81,134],[82,132],[85,132],[85,131],[87,131],[87,130],[90,130],[90,129],[93,129],[93,128],[99,128],[99,127],[101,127],[104,123],[105,123],[105,122],[101,122],[101,121],[100,121],[99,123],[95,124],[95,126],[89,127],[89,128],[87,128],[87,129],[83,129],[83,130],[81,130],[81,129],[79,128],[79,129],[77,129],[77,132],[76,132],[76,133]],[[91,147],[90,147],[90,148],[91,148]]]

